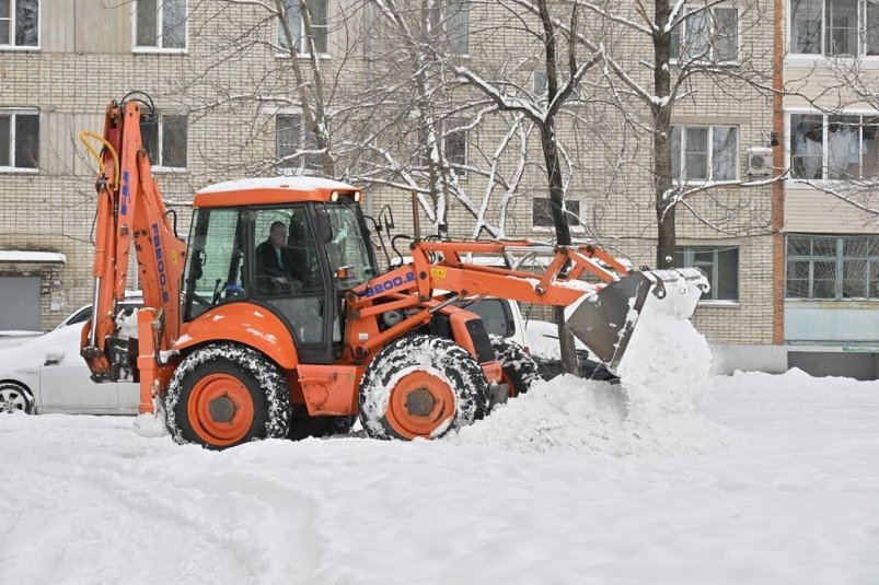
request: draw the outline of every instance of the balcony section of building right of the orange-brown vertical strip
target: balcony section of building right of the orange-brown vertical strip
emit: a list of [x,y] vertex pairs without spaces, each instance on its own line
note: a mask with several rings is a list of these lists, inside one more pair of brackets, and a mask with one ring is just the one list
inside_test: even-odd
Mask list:
[[879,5],[791,0],[785,25],[784,341],[790,365],[875,378]]

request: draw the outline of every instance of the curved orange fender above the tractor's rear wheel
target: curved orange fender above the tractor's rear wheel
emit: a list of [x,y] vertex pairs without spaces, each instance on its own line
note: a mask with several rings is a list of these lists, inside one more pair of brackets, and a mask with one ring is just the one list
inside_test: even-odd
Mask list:
[[216,341],[234,341],[265,353],[285,370],[299,364],[296,343],[284,321],[264,306],[230,303],[213,307],[181,327],[173,350]]

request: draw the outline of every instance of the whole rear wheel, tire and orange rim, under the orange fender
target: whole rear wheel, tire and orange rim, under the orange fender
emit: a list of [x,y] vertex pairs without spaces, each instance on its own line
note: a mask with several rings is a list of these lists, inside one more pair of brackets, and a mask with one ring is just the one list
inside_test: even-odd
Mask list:
[[[217,379],[220,382],[211,382]],[[209,417],[215,416],[213,405],[219,403],[217,418],[190,420],[190,402],[196,412],[205,410],[196,408],[199,401],[210,405]],[[284,438],[290,425],[290,390],[278,366],[258,351],[235,343],[211,343],[193,351],[174,371],[165,413],[167,430],[177,443],[222,449],[262,438]],[[224,417],[231,419],[229,433],[222,426]]]

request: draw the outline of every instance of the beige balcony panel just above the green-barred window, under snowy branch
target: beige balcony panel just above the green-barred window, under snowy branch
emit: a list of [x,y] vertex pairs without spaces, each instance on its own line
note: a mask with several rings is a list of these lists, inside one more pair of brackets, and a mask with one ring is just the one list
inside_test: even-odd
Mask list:
[[[807,233],[872,233],[870,217],[832,195],[809,187],[788,187],[785,231]],[[876,220],[872,219],[875,222]]]

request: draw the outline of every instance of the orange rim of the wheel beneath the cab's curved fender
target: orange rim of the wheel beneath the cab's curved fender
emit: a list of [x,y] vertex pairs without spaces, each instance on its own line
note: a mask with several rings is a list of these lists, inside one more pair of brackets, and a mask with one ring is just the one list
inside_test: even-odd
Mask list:
[[209,445],[234,445],[253,425],[253,398],[247,387],[229,374],[199,379],[186,411],[193,431]]

